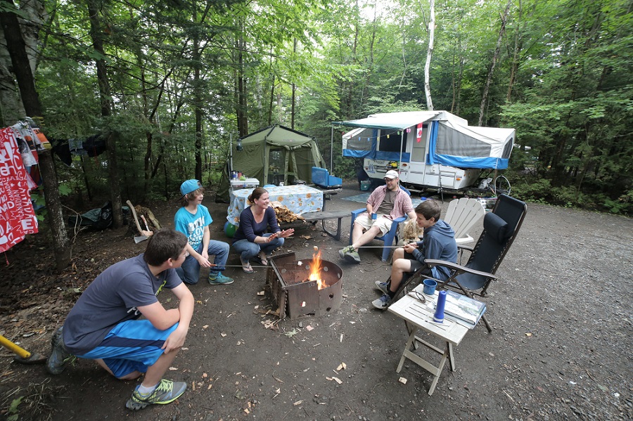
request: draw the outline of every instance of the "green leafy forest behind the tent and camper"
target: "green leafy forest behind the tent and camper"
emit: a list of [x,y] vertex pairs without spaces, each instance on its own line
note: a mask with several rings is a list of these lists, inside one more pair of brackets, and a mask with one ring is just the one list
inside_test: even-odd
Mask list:
[[631,214],[632,5],[0,0],[0,117],[108,145],[70,167],[41,156],[62,266],[59,194],[117,209],[167,200],[193,176],[214,185],[231,139],[274,123],[315,136],[336,175],[355,176],[331,122],[429,109],[425,83],[435,110],[516,129],[514,196]]

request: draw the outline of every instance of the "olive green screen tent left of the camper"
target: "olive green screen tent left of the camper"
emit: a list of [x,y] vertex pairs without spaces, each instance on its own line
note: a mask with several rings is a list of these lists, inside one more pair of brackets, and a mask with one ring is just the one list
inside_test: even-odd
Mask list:
[[[238,145],[242,150],[238,150]],[[233,167],[229,168],[231,161]],[[264,186],[280,182],[292,184],[297,179],[312,183],[312,167],[325,167],[316,139],[281,124],[273,124],[239,138],[231,145],[216,202],[229,201],[229,171],[240,171]]]

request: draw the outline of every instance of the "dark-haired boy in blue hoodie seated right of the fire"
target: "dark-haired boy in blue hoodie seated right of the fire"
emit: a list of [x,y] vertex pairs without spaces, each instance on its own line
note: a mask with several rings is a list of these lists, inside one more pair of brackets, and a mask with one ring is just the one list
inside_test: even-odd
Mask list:
[[440,219],[440,205],[435,200],[425,200],[415,209],[418,227],[424,229],[424,236],[420,242],[411,242],[393,252],[393,266],[390,282],[376,281],[376,287],[383,292],[383,296],[373,300],[376,309],[386,309],[402,282],[405,272],[415,272],[423,268],[423,273],[437,280],[449,278],[448,268],[435,266],[429,268],[424,259],[438,259],[456,263],[457,243],[455,232],[445,221]]

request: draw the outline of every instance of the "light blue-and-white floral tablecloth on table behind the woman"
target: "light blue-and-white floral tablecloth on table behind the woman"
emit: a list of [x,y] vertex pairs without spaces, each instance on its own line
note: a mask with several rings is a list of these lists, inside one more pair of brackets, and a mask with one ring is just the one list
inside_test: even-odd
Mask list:
[[[229,205],[226,219],[234,225],[238,225],[240,214],[246,207],[246,199],[252,193],[252,188],[231,191],[231,205]],[[306,212],[318,212],[323,209],[323,192],[317,188],[297,185],[269,187],[268,190],[271,202],[280,202],[281,205],[290,209],[295,214],[305,214]]]

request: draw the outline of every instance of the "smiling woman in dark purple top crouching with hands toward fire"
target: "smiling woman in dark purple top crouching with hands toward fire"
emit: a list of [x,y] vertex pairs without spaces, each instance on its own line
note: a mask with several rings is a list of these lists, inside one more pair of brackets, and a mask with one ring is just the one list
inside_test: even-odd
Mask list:
[[[252,273],[250,259],[257,258],[258,263],[268,264],[267,255],[283,245],[284,239],[295,233],[293,228],[281,230],[277,225],[275,209],[270,205],[268,191],[257,187],[248,196],[251,203],[240,214],[240,224],[234,235],[233,247],[240,254],[242,270]],[[268,228],[272,233],[265,233]]]

